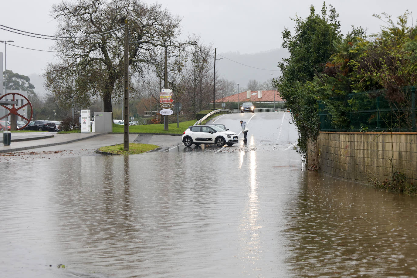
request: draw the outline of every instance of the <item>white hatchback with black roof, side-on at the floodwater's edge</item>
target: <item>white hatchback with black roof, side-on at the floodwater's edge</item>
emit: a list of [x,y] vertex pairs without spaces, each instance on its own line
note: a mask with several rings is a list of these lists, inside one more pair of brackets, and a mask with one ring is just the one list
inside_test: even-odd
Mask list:
[[182,135],[182,142],[187,147],[191,145],[216,144],[223,147],[224,144],[231,146],[238,143],[237,134],[233,131],[224,130],[215,125],[193,125],[187,128]]

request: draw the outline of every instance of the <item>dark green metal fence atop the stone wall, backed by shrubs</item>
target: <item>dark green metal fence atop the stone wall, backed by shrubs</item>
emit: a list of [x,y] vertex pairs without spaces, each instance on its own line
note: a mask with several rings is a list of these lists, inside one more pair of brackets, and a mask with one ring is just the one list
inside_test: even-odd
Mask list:
[[387,100],[384,90],[352,93],[343,101],[349,108],[345,128],[337,128],[332,123],[332,115],[325,102],[319,102],[321,131],[417,131],[416,127],[416,87],[402,88],[407,101],[398,105]]

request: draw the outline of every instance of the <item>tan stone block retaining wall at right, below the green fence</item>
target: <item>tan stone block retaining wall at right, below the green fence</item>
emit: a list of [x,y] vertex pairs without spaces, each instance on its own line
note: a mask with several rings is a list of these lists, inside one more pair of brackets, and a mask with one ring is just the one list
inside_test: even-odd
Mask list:
[[417,133],[320,132],[308,163],[325,174],[361,183],[390,177],[392,168],[417,183]]

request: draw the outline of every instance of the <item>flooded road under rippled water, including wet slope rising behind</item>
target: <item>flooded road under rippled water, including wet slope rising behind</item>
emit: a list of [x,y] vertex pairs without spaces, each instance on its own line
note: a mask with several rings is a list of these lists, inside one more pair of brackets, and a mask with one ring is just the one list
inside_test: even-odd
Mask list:
[[222,118],[247,145],[0,160],[0,275],[417,276],[415,199],[305,170],[271,114]]

